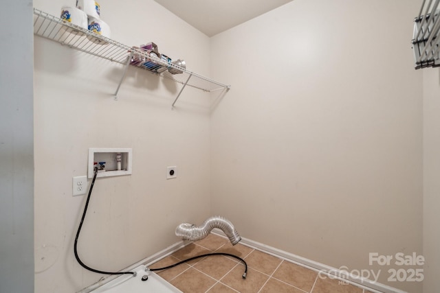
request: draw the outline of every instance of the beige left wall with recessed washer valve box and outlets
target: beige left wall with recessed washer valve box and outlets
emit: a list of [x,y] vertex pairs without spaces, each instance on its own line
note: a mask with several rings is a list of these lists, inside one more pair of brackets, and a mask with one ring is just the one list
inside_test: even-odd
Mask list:
[[[63,4],[34,7],[58,15]],[[155,1],[100,5],[115,40],[153,41],[209,75],[209,38]],[[36,292],[76,292],[102,277],[73,252],[85,196],[72,197],[72,177],[87,174],[88,148],[133,148],[131,176],[96,181],[78,245],[89,266],[120,270],[178,242],[181,222],[210,215],[210,97],[187,88],[171,110],[181,86],[131,68],[115,102],[122,66],[39,37],[34,51]],[[178,177],[166,180],[170,165]]]

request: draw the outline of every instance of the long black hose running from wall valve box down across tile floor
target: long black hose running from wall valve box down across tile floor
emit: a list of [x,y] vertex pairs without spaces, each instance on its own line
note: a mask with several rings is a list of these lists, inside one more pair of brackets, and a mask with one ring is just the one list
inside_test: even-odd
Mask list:
[[[83,227],[83,222],[85,219],[85,215],[87,213],[87,208],[89,207],[89,200],[90,200],[90,196],[91,196],[91,190],[94,188],[94,184],[95,184],[95,180],[96,180],[96,175],[98,175],[98,168],[95,167],[95,174],[94,174],[94,178],[93,180],[91,180],[91,185],[90,185],[90,189],[89,189],[89,195],[87,196],[87,201],[85,202],[85,207],[84,207],[84,211],[83,211],[83,217],[81,218],[81,222],[80,225],[78,226],[78,231],[76,232],[76,237],[75,237],[75,244],[74,244],[74,253],[75,253],[75,258],[78,261],[78,263],[83,266],[83,268],[90,270],[91,272],[97,272],[98,274],[135,274],[135,272],[105,272],[103,270],[96,270],[94,268],[90,268],[89,266],[87,266],[85,263],[83,263],[83,261],[81,261],[79,255],[78,255],[78,249],[77,249],[77,245],[78,245],[78,237],[80,236],[80,232],[81,232],[81,228]],[[149,270],[151,270],[152,272],[155,270],[167,270],[168,268],[174,268],[175,266],[179,266],[179,264],[181,263],[186,263],[187,261],[192,261],[192,259],[198,259],[200,257],[209,257],[211,255],[225,255],[228,257],[234,257],[236,259],[239,259],[241,261],[243,261],[244,265],[245,265],[245,272],[243,274],[243,279],[246,279],[246,275],[248,274],[248,263],[246,263],[246,261],[244,259],[242,259],[241,257],[237,257],[236,255],[231,255],[229,253],[208,253],[205,255],[197,255],[196,257],[190,257],[189,259],[185,259],[183,261],[179,261],[178,263],[175,263],[171,266],[166,266],[164,268],[151,268]]]

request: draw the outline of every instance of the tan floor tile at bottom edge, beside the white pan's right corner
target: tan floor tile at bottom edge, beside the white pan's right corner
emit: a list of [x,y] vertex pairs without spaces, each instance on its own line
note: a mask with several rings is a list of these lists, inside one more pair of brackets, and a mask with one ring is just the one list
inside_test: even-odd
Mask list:
[[216,281],[194,268],[189,268],[170,283],[185,293],[205,293]]

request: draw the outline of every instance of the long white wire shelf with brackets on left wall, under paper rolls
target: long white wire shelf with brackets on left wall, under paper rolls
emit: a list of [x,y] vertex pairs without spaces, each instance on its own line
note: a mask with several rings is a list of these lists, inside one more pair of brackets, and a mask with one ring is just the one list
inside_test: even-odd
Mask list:
[[[159,75],[162,78],[168,78],[174,82],[183,84],[179,94],[173,102],[173,107],[185,86],[191,86],[195,89],[200,89],[201,91],[206,92],[228,91],[230,89],[229,85],[206,78],[205,76],[189,71],[186,68],[166,62],[161,58],[151,56],[147,54],[146,51],[137,47],[129,47],[110,38],[100,36],[36,8],[34,8],[34,34],[36,36],[54,40],[61,43],[61,45],[67,45],[68,47],[83,51],[87,54],[124,65],[124,73],[122,74],[120,83],[115,91],[115,99],[118,99],[118,92],[129,66],[144,69],[148,71],[148,73]],[[136,58],[142,58],[144,61],[133,62],[133,56]],[[145,64],[147,62],[149,62],[150,65],[153,64],[155,66],[146,67]],[[168,69],[175,69],[175,71],[181,73],[172,74]]]

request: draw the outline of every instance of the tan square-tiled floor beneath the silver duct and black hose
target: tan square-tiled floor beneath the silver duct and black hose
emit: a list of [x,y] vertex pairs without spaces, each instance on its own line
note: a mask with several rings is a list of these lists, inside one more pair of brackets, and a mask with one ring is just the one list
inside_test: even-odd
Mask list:
[[212,233],[157,261],[150,268],[170,266],[214,252],[245,259],[248,277],[242,278],[245,267],[239,259],[223,255],[194,259],[158,274],[184,293],[371,293],[354,285],[341,284],[336,279],[322,279],[313,270],[248,246],[232,246],[228,239]]

